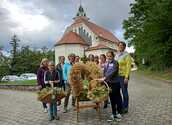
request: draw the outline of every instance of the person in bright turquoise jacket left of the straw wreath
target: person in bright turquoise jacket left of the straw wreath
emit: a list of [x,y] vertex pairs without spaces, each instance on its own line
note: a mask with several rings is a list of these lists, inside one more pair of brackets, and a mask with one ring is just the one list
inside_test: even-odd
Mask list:
[[[64,113],[67,112],[67,106],[68,106],[69,97],[70,97],[70,93],[71,93],[71,87],[70,87],[68,78],[69,78],[69,73],[72,68],[72,65],[75,63],[75,54],[73,54],[73,53],[69,54],[68,60],[69,60],[69,62],[65,63],[64,67],[63,67],[63,79],[65,82],[65,90],[67,92],[67,95],[66,95],[65,101],[64,101],[64,111],[63,111]],[[73,106],[75,105],[74,98],[72,98],[72,105]]]

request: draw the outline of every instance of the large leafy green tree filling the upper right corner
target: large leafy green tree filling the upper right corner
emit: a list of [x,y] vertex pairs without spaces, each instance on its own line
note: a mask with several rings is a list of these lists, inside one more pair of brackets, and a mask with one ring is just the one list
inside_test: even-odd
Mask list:
[[172,67],[172,1],[135,0],[130,14],[124,36],[134,45],[137,62],[144,58],[152,70]]

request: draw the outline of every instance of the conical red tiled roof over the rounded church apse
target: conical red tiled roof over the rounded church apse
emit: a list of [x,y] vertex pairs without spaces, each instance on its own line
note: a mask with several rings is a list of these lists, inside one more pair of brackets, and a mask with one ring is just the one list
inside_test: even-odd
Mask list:
[[62,44],[81,44],[81,45],[88,45],[84,39],[82,39],[77,33],[75,32],[68,32],[63,35],[61,40],[59,40],[55,46],[62,45]]

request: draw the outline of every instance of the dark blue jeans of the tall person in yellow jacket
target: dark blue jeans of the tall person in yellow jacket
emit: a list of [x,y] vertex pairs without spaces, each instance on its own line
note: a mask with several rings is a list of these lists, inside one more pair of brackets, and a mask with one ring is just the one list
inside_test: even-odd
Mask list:
[[129,105],[129,95],[128,95],[128,84],[124,83],[124,76],[119,76],[119,82],[121,85],[121,90],[122,90],[122,105],[123,108],[128,109],[128,105]]

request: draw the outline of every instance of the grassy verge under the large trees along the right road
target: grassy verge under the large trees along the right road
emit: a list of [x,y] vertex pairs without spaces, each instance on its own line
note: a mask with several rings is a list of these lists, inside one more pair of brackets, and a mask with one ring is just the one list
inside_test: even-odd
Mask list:
[[172,69],[163,72],[155,72],[150,70],[138,70],[136,72],[144,74],[151,78],[172,81]]

